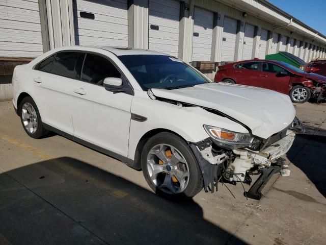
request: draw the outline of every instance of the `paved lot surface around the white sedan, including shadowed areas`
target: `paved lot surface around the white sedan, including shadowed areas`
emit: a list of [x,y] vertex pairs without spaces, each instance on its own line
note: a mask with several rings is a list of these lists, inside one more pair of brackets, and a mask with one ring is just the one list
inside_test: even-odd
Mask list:
[[286,156],[291,175],[275,175],[262,200],[220,185],[170,202],[113,158],[28,137],[1,102],[0,244],[325,244],[326,103],[295,106],[307,133]]

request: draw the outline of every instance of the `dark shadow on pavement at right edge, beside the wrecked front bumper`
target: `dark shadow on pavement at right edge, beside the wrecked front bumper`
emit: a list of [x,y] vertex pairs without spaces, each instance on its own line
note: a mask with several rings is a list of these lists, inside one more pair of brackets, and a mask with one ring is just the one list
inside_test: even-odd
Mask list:
[[326,132],[321,131],[315,131],[317,135],[297,134],[287,157],[326,198]]

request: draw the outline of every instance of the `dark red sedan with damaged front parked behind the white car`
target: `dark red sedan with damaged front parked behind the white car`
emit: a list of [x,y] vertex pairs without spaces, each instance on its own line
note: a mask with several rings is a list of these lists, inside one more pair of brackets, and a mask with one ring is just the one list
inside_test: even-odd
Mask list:
[[326,97],[326,77],[308,73],[283,61],[244,60],[219,66],[215,82],[267,88],[288,94],[295,103]]

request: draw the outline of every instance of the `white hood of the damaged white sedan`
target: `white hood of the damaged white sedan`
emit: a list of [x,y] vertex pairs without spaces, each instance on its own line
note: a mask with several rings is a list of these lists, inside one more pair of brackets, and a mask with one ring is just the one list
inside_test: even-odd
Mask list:
[[218,110],[249,127],[253,135],[265,139],[288,127],[295,116],[289,96],[263,88],[207,83],[151,90],[156,97]]

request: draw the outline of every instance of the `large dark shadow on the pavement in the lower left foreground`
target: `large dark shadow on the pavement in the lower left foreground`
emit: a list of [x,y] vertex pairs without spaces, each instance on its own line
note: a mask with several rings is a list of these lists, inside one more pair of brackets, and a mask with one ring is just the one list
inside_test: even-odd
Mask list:
[[205,220],[192,199],[167,201],[63,157],[0,174],[0,244],[247,243]]

